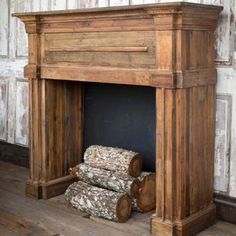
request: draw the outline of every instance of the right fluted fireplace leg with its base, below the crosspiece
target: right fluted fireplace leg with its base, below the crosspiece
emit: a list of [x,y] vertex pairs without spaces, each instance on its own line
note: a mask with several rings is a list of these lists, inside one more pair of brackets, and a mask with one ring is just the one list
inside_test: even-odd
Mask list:
[[153,235],[189,236],[213,224],[215,86],[156,90]]

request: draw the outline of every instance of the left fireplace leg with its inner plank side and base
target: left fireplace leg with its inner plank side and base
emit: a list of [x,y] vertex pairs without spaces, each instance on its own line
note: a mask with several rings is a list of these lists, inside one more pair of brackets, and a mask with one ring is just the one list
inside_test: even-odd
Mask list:
[[30,79],[30,176],[26,195],[50,198],[75,181],[82,159],[81,83]]

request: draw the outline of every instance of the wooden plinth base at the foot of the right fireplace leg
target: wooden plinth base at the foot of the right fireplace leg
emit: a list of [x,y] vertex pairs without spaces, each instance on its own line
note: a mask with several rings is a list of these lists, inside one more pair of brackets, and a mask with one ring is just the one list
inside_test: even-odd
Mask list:
[[159,217],[152,218],[153,236],[193,236],[215,223],[216,207],[212,203],[205,209],[181,221],[170,222]]

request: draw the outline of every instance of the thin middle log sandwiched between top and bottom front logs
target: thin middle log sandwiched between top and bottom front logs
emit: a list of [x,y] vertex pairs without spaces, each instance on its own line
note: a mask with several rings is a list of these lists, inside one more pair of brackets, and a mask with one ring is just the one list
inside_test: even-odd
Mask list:
[[92,167],[81,163],[71,169],[71,173],[79,180],[88,184],[110,189],[119,193],[136,196],[139,190],[139,180],[131,176],[120,176],[114,171]]

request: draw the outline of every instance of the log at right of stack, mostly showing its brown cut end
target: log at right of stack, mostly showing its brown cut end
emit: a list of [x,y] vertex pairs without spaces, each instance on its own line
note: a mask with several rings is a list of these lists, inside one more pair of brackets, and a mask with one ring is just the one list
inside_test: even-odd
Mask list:
[[156,206],[156,175],[153,172],[142,172],[138,177],[139,191],[132,199],[132,209],[139,212],[148,212]]

